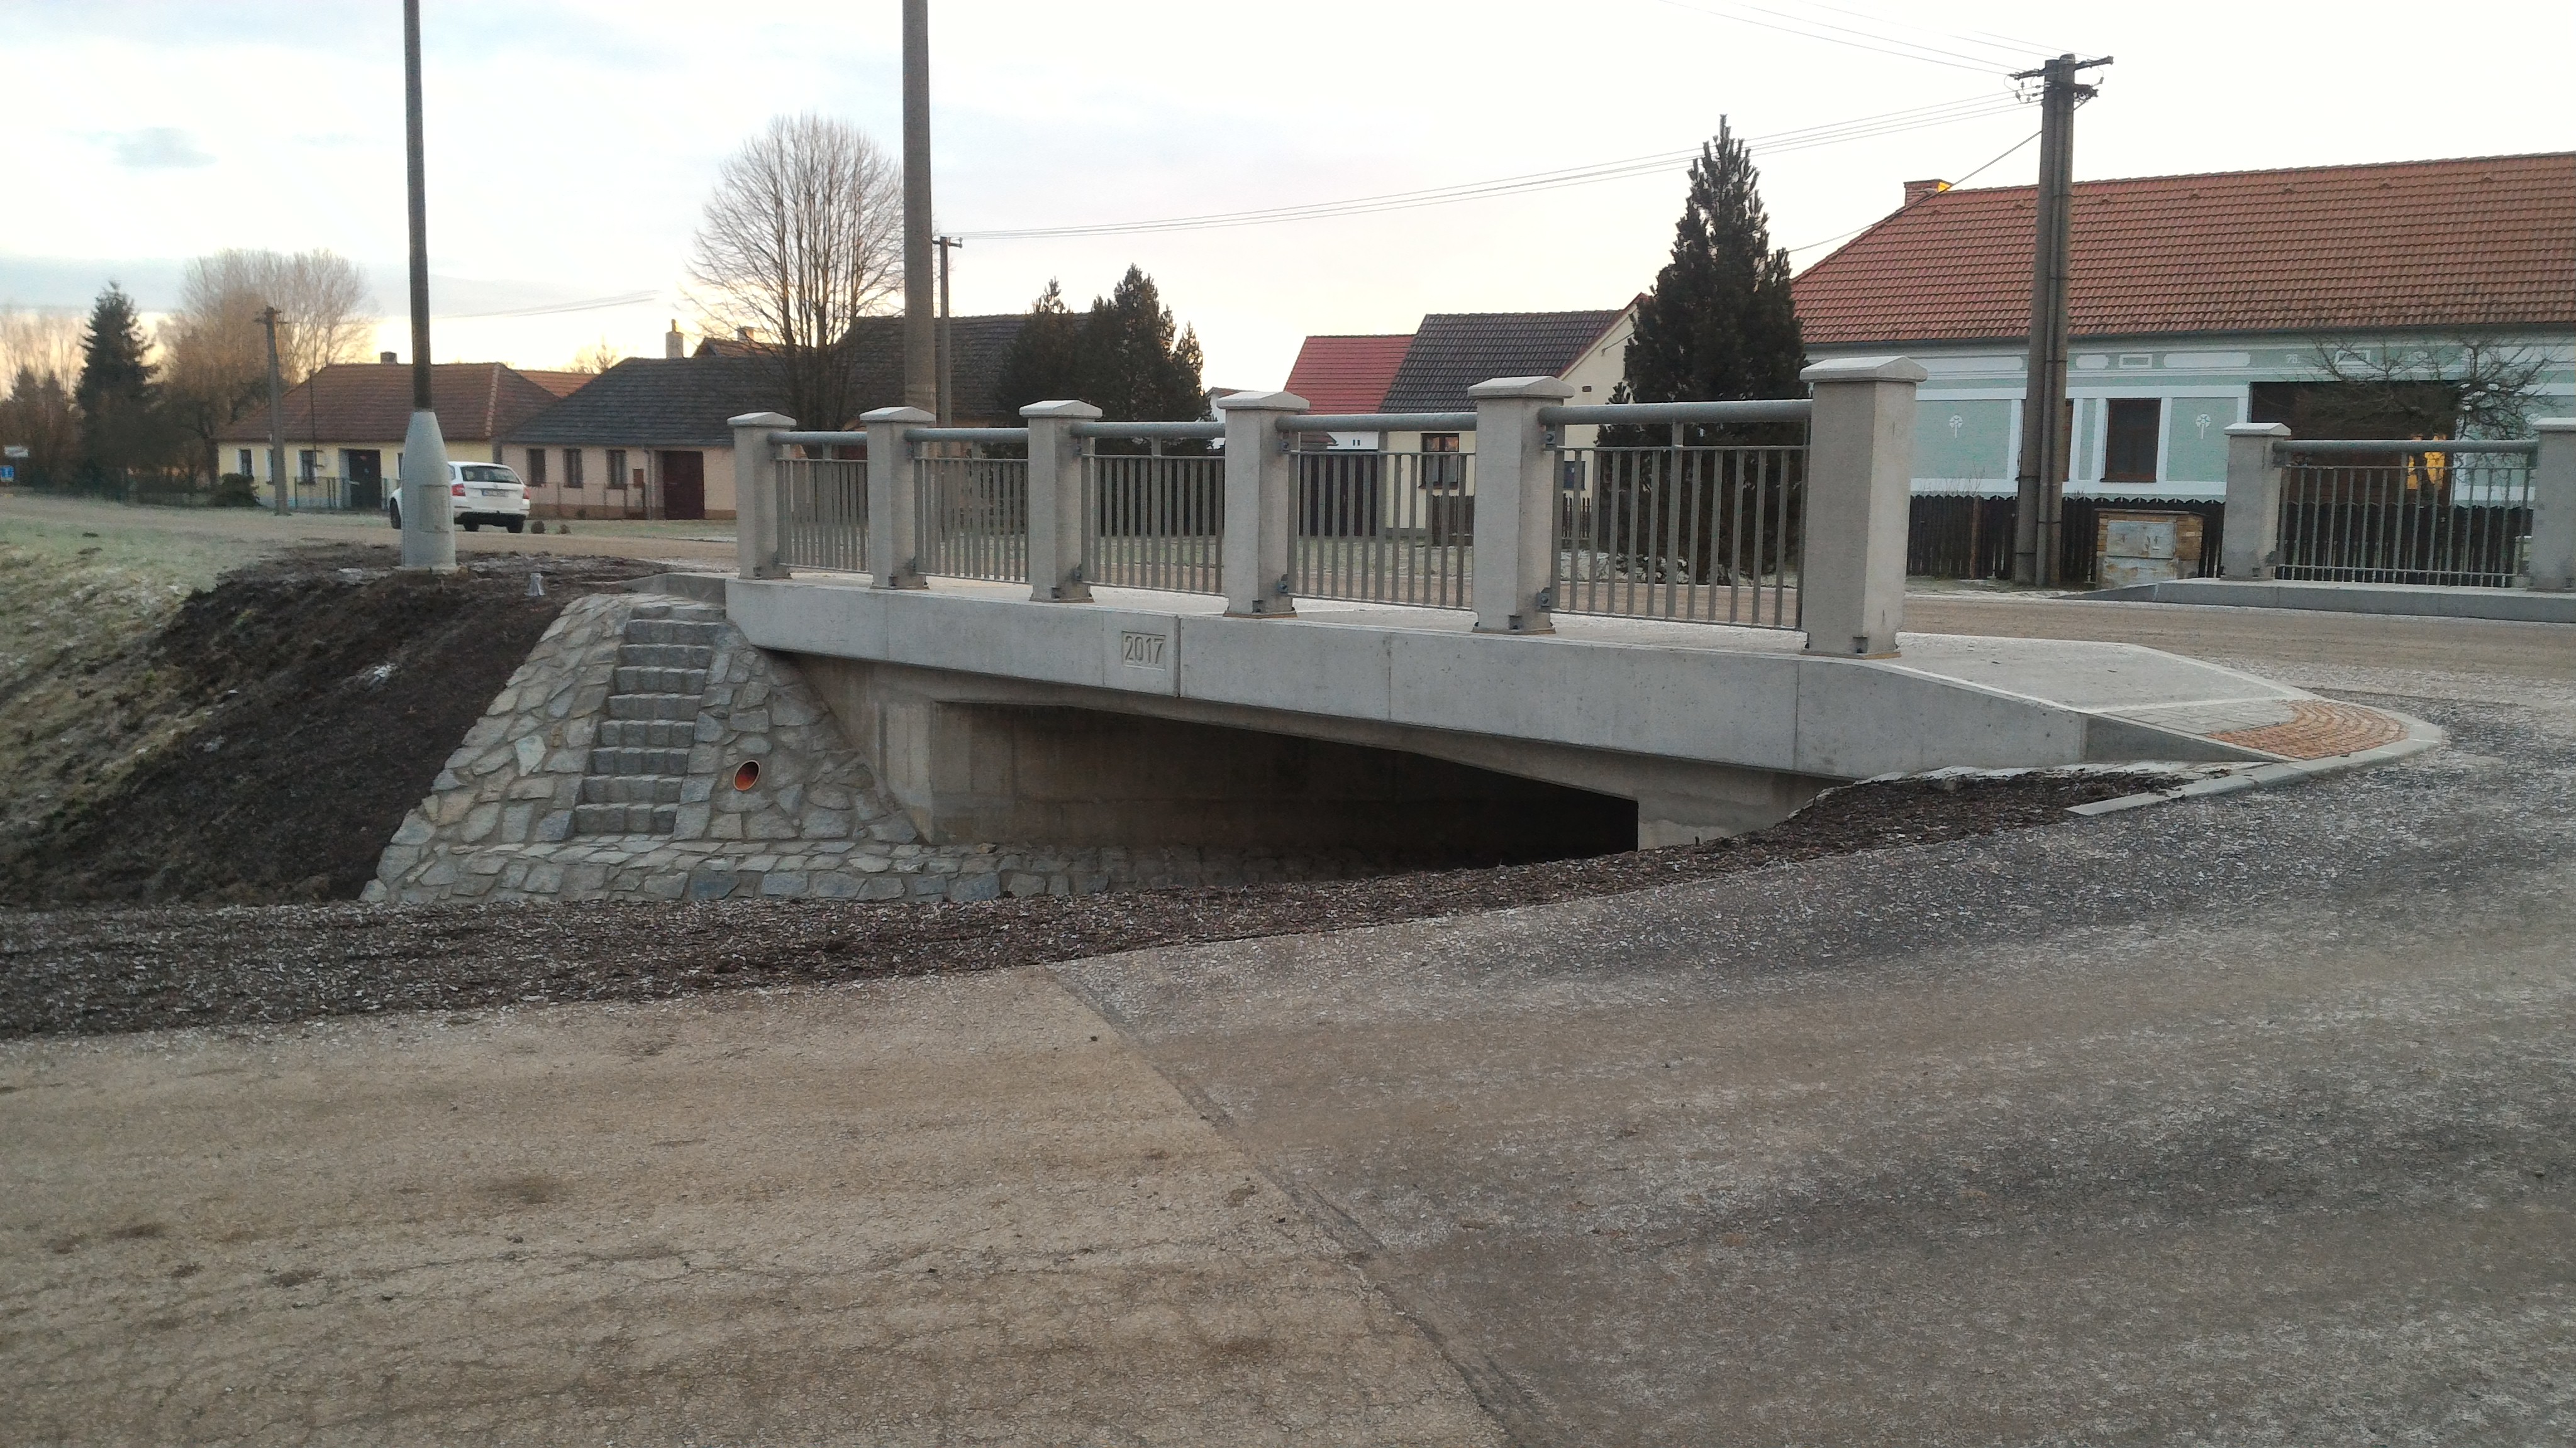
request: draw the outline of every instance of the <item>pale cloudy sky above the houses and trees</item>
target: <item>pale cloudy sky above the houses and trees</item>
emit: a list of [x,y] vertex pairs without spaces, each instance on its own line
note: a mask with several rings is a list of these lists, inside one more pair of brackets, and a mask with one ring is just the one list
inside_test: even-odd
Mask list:
[[[773,113],[899,152],[894,0],[425,0],[438,361],[659,353],[716,165]],[[2007,70],[2117,62],[2076,178],[2576,149],[2568,0],[2063,5],[1950,0],[933,0],[938,224],[1136,222],[1680,152],[1953,100],[1996,113],[1757,149],[1801,265],[2038,129]],[[1899,23],[1904,18],[1904,23]],[[1932,26],[1932,28],[1919,28]],[[1793,33],[1806,31],[1806,33]],[[0,304],[147,309],[216,247],[332,247],[402,309],[397,0],[0,0]],[[1865,49],[1875,46],[1875,49]],[[1899,52],[1899,54],[1886,54]],[[1976,186],[2027,183],[2022,147]],[[1618,307],[1654,281],[1682,167],[1270,227],[974,240],[956,309],[1074,301],[1126,263],[1198,327],[1208,381],[1275,386],[1306,332],[1425,312]],[[649,296],[541,317],[474,317]]]

